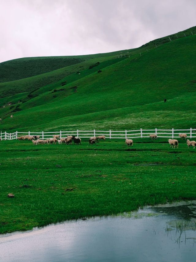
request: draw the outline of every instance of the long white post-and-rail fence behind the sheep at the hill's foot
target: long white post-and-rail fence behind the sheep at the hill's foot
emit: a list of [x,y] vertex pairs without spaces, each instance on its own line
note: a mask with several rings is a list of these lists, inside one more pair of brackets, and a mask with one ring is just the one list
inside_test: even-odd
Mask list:
[[125,138],[143,138],[149,137],[150,134],[156,134],[157,137],[165,137],[165,138],[179,138],[179,133],[186,133],[187,137],[194,138],[196,137],[196,128],[190,129],[139,129],[139,130],[124,130],[124,131],[98,131],[98,130],[91,130],[91,131],[58,131],[58,132],[14,132],[14,133],[7,133],[6,131],[2,133],[1,131],[1,139],[2,140],[13,140],[17,139],[17,137],[22,135],[40,135],[40,139],[48,139],[53,137],[53,135],[59,135],[60,138],[66,137],[67,135],[75,135],[79,138],[90,138],[92,136],[99,136],[105,135],[108,139],[125,139]]

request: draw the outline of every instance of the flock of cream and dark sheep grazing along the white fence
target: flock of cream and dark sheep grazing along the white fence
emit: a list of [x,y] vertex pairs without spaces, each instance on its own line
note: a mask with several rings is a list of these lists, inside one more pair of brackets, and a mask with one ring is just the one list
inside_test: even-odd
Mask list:
[[[157,139],[157,135],[156,134],[152,134],[149,135],[151,139]],[[187,134],[179,134],[180,138],[185,138],[187,139]],[[78,137],[75,137],[74,135],[68,135],[66,138],[60,138],[60,135],[53,135],[53,138],[50,139],[40,139],[40,135],[26,135],[26,136],[19,136],[17,138],[18,140],[32,140],[32,143],[34,145],[38,145],[38,144],[53,144],[53,143],[58,143],[58,144],[63,144],[66,143],[67,145],[72,144],[72,141],[74,142],[74,145],[81,145],[81,139]],[[37,140],[34,140],[37,139]],[[89,138],[89,145],[93,145],[96,143],[97,140],[105,140],[105,136],[104,135],[100,135],[100,136],[93,136],[91,138]],[[170,147],[172,148],[178,148],[178,140],[176,139],[168,139],[168,142],[170,144]],[[133,146],[133,140],[132,139],[126,139],[125,143],[127,146]],[[187,146],[189,147],[193,147],[195,148],[196,146],[196,141],[190,141],[189,139],[187,139]]]

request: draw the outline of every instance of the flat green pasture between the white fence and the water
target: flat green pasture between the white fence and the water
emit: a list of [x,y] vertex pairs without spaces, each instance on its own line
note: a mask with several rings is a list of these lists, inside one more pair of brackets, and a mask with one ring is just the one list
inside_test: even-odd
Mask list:
[[[179,139],[124,139],[89,146],[2,141],[0,233],[139,206],[195,199],[195,150]],[[15,194],[8,198],[7,194]]]

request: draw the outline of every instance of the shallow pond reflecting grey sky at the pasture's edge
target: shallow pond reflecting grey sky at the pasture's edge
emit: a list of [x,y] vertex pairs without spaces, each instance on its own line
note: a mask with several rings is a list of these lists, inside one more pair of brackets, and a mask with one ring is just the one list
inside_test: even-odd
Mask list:
[[0,261],[195,261],[196,201],[0,236]]

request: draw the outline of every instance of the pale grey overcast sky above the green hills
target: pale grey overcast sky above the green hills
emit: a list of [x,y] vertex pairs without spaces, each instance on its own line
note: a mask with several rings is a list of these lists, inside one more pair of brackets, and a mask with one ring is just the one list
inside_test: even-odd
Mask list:
[[196,25],[195,0],[0,0],[0,62],[105,53]]

